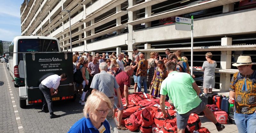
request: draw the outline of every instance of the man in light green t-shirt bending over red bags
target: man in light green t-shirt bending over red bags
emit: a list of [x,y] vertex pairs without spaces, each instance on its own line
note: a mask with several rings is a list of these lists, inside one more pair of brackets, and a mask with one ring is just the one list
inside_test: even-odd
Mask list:
[[[165,96],[168,94],[177,110],[178,133],[185,132],[189,115],[194,112],[204,112],[206,117],[216,125],[217,130],[222,131],[225,126],[217,122],[211,110],[207,108],[204,102],[198,97],[200,89],[192,76],[188,73],[177,72],[174,62],[168,62],[166,69],[169,74],[161,84],[160,106],[161,109],[164,110]],[[167,113],[163,111],[163,114],[164,118],[166,118]]]

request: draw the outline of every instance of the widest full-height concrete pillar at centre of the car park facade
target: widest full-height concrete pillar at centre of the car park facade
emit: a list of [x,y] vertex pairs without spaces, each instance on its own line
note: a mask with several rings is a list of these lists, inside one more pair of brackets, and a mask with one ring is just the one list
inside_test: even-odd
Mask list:
[[[129,7],[132,7],[133,5],[136,4],[136,0],[128,0],[128,5]],[[128,22],[131,22],[135,20],[135,13],[133,13],[132,11],[128,11]],[[127,41],[127,45],[128,45],[128,50],[132,50],[135,46],[134,46],[134,39],[132,38],[132,31],[133,31],[133,25],[128,24],[128,41]],[[132,57],[132,53],[133,52],[128,52],[128,55],[130,57],[130,59],[134,60]]]

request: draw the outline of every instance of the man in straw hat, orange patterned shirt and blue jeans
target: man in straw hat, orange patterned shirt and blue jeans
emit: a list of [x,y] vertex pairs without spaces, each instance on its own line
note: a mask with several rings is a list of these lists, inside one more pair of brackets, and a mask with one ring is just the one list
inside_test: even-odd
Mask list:
[[229,103],[235,105],[234,119],[239,133],[256,132],[256,71],[250,56],[239,56],[230,82]]

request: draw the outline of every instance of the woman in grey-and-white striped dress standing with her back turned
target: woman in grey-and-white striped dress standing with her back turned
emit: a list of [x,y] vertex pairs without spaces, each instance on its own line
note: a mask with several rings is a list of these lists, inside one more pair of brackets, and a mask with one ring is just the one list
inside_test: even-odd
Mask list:
[[209,93],[212,93],[212,88],[215,85],[215,67],[217,67],[216,61],[212,60],[212,53],[208,52],[205,54],[205,59],[202,71],[204,71],[204,93],[207,94],[208,88]]

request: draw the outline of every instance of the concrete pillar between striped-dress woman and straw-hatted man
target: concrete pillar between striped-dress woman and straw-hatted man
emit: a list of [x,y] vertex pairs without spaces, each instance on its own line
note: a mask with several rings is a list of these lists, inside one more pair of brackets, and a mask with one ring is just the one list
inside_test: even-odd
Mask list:
[[[232,45],[232,38],[221,38],[221,46]],[[231,68],[231,51],[221,51],[220,56],[220,68]],[[230,85],[230,74],[220,74],[220,90],[228,91]]]

